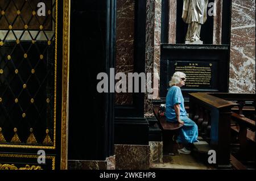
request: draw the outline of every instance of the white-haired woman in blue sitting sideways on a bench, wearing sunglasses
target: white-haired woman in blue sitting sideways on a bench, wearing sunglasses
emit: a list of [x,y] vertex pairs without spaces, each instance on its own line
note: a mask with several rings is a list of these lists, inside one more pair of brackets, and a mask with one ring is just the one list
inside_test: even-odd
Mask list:
[[183,124],[177,137],[177,143],[179,144],[178,152],[189,154],[191,151],[186,146],[198,141],[198,129],[196,123],[189,119],[185,111],[184,99],[180,89],[180,87],[185,85],[185,77],[184,73],[177,71],[169,82],[170,89],[166,96],[166,119],[167,121]]

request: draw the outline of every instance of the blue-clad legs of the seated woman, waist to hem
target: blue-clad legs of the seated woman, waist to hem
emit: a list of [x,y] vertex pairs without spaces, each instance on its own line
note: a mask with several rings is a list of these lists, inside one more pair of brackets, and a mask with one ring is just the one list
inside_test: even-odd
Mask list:
[[177,142],[187,145],[197,142],[198,128],[194,121],[187,116],[180,116],[180,119],[184,121],[183,127],[180,129]]

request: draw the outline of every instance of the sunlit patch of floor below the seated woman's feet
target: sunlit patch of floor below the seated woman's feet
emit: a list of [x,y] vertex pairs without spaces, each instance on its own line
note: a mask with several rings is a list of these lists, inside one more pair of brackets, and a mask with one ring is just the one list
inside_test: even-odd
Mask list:
[[200,162],[192,154],[179,154],[163,155],[163,163],[151,163],[150,169],[213,170],[214,167]]

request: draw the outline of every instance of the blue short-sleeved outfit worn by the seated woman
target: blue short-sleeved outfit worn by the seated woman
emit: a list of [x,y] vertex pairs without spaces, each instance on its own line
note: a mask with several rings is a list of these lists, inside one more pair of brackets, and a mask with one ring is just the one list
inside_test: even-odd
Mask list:
[[172,86],[168,90],[166,96],[166,119],[167,121],[177,122],[174,105],[180,104],[180,119],[184,121],[183,127],[180,129],[177,142],[182,144],[188,144],[197,142],[198,129],[194,121],[189,119],[184,107],[184,98],[181,94],[181,89],[178,86]]

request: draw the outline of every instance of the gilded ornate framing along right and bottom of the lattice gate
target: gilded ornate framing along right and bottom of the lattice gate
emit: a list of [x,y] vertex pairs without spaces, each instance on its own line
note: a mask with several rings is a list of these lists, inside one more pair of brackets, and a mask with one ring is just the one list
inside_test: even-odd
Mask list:
[[[61,100],[61,153],[60,153],[60,169],[68,169],[68,85],[69,85],[69,24],[70,24],[70,5],[71,0],[63,0],[63,70],[62,70],[62,100]],[[57,94],[57,7],[58,0],[56,0],[56,16],[55,16],[55,98],[54,98],[54,140],[53,146],[35,146],[35,145],[9,145],[1,144],[0,147],[6,148],[36,148],[36,149],[56,149],[56,94]],[[7,155],[7,154],[5,154]],[[3,154],[0,154],[0,157]],[[34,158],[34,155],[14,155],[8,154],[9,157],[27,157]],[[53,169],[55,169],[55,157],[52,158]]]

